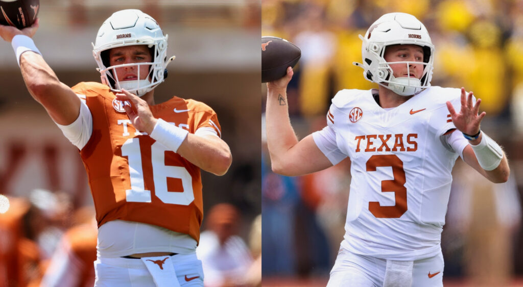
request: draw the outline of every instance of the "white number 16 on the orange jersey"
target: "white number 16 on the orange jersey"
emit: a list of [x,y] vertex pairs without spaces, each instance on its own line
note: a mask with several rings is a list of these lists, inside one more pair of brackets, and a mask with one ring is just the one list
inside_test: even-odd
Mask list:
[[[142,170],[142,156],[140,152],[140,138],[130,138],[123,143],[122,156],[128,158],[131,189],[126,190],[126,200],[129,202],[151,202],[151,190],[145,190]],[[189,205],[194,201],[192,192],[192,177],[181,166],[165,165],[165,147],[155,142],[151,146],[153,166],[154,193],[166,204]],[[156,160],[155,160],[156,159]],[[169,192],[167,177],[179,178],[184,191]]]

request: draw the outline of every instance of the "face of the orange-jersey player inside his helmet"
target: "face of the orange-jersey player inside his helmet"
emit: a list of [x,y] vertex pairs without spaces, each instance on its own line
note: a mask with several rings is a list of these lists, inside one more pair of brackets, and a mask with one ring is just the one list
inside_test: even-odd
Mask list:
[[[150,63],[152,56],[149,47],[146,45],[133,45],[113,48],[109,51],[109,64],[111,66],[134,63]],[[144,80],[149,74],[150,65],[140,65],[140,75],[138,75],[138,66],[131,65],[116,68],[118,81]]]

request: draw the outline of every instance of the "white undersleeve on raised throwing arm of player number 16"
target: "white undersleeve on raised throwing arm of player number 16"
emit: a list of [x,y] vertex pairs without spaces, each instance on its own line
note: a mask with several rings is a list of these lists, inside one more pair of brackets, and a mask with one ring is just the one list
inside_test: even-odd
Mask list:
[[73,143],[78,149],[82,150],[89,138],[93,134],[93,116],[89,111],[89,107],[85,103],[85,98],[83,95],[80,97],[80,114],[78,118],[70,125],[63,126],[56,124],[61,130],[64,136]]

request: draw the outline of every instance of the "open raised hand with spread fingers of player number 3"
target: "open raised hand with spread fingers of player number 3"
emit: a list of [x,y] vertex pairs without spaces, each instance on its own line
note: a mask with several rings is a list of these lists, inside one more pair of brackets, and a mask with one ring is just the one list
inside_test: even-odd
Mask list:
[[480,123],[485,112],[478,114],[480,111],[481,99],[477,99],[475,104],[472,102],[472,92],[468,95],[465,93],[465,88],[461,88],[461,110],[459,113],[454,110],[450,102],[447,102],[447,109],[452,116],[452,122],[457,129],[467,135],[475,135],[480,131]]

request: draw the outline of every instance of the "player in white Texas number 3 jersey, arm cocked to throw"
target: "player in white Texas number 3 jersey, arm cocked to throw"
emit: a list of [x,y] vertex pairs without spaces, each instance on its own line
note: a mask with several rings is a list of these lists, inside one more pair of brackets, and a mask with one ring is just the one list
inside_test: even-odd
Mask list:
[[434,45],[412,15],[380,17],[361,37],[363,76],[378,89],[339,91],[327,126],[298,140],[287,84],[267,83],[272,170],[288,176],[351,160],[345,236],[327,286],[442,286],[440,238],[461,157],[495,183],[509,167],[485,135],[481,100],[464,88],[431,87]]

